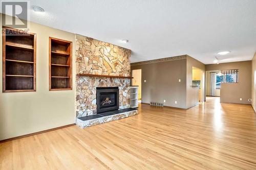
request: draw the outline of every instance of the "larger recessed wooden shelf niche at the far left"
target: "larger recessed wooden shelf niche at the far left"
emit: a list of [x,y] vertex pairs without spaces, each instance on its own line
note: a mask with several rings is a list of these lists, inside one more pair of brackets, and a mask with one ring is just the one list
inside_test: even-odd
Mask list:
[[3,92],[36,91],[36,34],[3,27]]

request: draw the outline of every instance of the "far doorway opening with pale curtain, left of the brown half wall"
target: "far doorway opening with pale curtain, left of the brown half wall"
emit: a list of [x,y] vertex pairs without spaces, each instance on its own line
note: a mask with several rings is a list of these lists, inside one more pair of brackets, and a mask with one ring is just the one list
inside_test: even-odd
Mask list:
[[220,70],[206,71],[206,96],[220,96],[221,79]]

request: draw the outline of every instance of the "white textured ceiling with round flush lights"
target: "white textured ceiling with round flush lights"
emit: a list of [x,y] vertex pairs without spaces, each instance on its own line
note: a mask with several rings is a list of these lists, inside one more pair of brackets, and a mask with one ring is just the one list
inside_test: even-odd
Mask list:
[[[255,0],[32,0],[31,21],[132,50],[132,62],[187,54],[214,63],[251,60]],[[120,42],[128,39],[129,43]],[[225,56],[221,51],[231,51]]]

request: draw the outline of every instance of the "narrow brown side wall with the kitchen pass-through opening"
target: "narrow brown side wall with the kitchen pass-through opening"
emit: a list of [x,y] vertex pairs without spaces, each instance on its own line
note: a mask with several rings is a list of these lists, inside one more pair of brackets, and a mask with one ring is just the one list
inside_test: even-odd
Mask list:
[[198,87],[192,86],[193,80],[193,67],[197,67],[202,70],[203,77],[201,78],[201,99],[205,101],[205,64],[200,61],[187,56],[186,59],[186,108],[196,106],[199,103]]

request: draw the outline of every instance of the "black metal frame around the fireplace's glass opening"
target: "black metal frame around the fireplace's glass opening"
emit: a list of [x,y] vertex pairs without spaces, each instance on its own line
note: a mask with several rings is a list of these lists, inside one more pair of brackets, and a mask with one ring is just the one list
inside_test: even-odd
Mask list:
[[[115,105],[110,107],[100,107],[100,94],[115,92]],[[118,87],[96,87],[97,113],[113,111],[119,109],[119,88]]]

